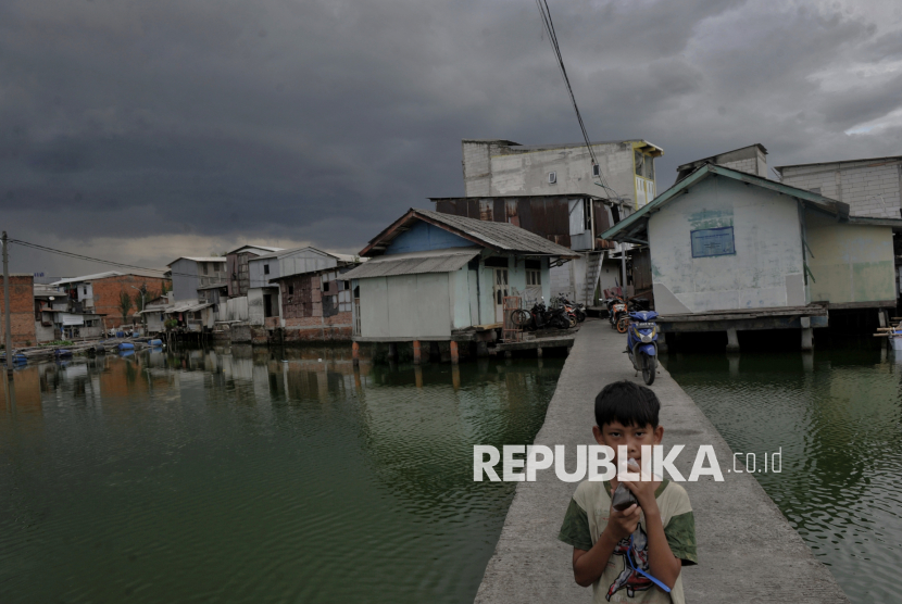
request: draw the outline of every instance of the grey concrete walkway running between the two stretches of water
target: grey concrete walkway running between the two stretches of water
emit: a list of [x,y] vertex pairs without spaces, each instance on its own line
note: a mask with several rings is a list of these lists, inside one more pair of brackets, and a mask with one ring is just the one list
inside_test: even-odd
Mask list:
[[[577,444],[593,444],[593,402],[604,385],[641,383],[626,354],[626,337],[605,320],[584,324],[548,407],[536,444],[564,444],[575,458]],[[701,410],[663,368],[652,389],[661,399],[664,444],[685,444],[677,469],[688,477],[700,444],[712,444],[724,482],[702,477],[684,482],[696,515],[699,566],[684,568],[688,603],[848,603],[826,566],[748,474],[727,474],[732,453]],[[514,444],[514,443],[511,443]],[[791,463],[784,460],[784,463]],[[567,467],[574,463],[568,460]],[[500,468],[499,468],[500,469]],[[501,538],[489,561],[476,602],[591,602],[590,588],[573,581],[573,549],[558,541],[576,483],[558,480],[553,468],[536,482],[521,482]]]

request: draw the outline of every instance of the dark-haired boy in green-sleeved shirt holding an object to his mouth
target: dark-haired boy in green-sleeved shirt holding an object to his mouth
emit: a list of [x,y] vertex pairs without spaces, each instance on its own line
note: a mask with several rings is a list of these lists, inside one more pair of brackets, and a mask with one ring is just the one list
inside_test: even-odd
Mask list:
[[[614,450],[615,467],[618,445],[626,445],[641,467],[641,446],[661,444],[660,408],[654,392],[631,381],[609,383],[598,394],[592,433],[599,444]],[[558,536],[573,545],[574,579],[592,586],[596,603],[684,604],[680,568],[698,564],[689,496],[666,478],[624,481],[639,505],[618,512],[611,506],[617,485],[615,476],[610,482],[586,480],[576,488]]]

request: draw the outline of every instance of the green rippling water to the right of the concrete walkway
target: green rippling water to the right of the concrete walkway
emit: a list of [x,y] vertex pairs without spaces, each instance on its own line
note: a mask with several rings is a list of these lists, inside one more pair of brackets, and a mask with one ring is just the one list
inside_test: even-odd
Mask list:
[[[902,600],[902,358],[835,341],[665,364],[742,458],[763,470],[782,449],[782,471],[755,477],[853,602]],[[792,586],[774,589],[791,600]]]

